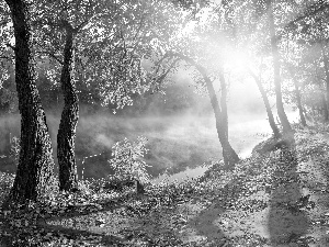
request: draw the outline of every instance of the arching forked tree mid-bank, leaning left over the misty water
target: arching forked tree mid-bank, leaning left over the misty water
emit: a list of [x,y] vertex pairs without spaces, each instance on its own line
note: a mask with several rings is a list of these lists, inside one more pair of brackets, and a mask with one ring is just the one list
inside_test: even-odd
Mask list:
[[[186,11],[189,12],[189,8]],[[202,9],[198,9],[197,13],[202,15]],[[194,81],[200,82],[200,85],[207,90],[212,108],[215,113],[216,130],[223,148],[224,161],[230,169],[239,161],[239,157],[228,141],[228,113],[226,106],[227,82],[224,76],[223,66],[225,64],[225,59],[223,59],[224,56],[220,54],[220,52],[225,49],[220,46],[223,45],[223,47],[225,47],[226,44],[225,42],[218,44],[217,41],[208,37],[207,27],[205,27],[208,23],[205,25],[198,25],[200,14],[195,14],[191,18],[190,24],[195,26],[194,31],[184,35],[183,29],[180,31],[181,33],[177,38],[172,38],[173,41],[163,47],[162,57],[155,63],[154,78],[156,83],[159,85],[158,87],[160,87],[169,72],[174,71],[179,66],[177,59],[183,60],[189,67],[192,67],[197,71],[193,79]],[[198,31],[201,33],[198,33]],[[200,38],[201,36],[203,38]],[[180,63],[180,65],[182,64]],[[213,86],[213,80],[215,79],[219,81],[220,103]]]

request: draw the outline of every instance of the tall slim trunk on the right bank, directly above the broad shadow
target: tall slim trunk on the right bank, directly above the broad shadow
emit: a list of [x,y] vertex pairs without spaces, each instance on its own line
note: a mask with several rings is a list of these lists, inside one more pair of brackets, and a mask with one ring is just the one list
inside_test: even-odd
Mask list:
[[283,127],[283,133],[292,132],[292,126],[290,121],[285,114],[282,101],[282,91],[281,91],[281,76],[280,76],[280,59],[279,59],[279,50],[277,50],[277,38],[275,36],[275,24],[273,16],[273,2],[271,4],[269,11],[269,24],[270,24],[270,35],[271,35],[271,48],[273,56],[273,67],[274,67],[274,85],[275,85],[275,97],[276,97],[276,109],[277,115],[280,117],[280,122]]

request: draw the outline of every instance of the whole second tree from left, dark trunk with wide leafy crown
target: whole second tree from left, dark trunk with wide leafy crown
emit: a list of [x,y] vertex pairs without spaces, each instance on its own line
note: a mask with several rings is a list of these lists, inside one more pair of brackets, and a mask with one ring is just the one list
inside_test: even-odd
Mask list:
[[141,60],[152,56],[157,44],[168,40],[174,31],[175,24],[169,18],[172,13],[167,5],[166,1],[151,0],[35,4],[35,13],[41,16],[35,24],[45,37],[38,43],[41,53],[61,66],[59,81],[65,106],[57,136],[61,190],[77,187],[75,136],[79,105],[76,78],[88,87],[97,85],[103,105],[114,104],[122,109],[132,104],[131,94],[143,93],[149,88]]

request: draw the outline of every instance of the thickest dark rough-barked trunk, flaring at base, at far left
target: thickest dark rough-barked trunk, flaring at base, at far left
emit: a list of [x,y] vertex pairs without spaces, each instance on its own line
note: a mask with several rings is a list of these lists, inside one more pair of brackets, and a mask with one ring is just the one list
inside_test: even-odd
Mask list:
[[15,37],[15,82],[21,113],[21,151],[16,176],[7,205],[37,201],[49,193],[54,159],[46,115],[35,85],[31,47],[31,15],[26,1],[5,0]]

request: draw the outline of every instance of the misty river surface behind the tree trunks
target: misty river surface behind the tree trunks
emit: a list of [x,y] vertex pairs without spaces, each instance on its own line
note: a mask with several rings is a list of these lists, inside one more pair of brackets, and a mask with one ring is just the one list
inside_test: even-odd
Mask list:
[[[290,112],[290,121],[296,121],[297,112]],[[58,117],[48,117],[56,161],[56,142]],[[20,125],[20,121],[12,122]],[[148,138],[149,153],[145,161],[151,166],[148,172],[157,178],[169,170],[170,180],[184,180],[202,176],[209,160],[222,159],[222,147],[217,137],[214,115],[194,116],[183,114],[175,116],[113,117],[113,115],[81,116],[76,139],[76,160],[79,178],[103,178],[110,169],[111,147],[115,142],[127,137],[135,141],[138,135]],[[229,141],[241,158],[251,154],[252,148],[271,135],[265,115],[229,116]],[[2,154],[0,154],[2,155]],[[2,160],[2,159],[1,159]],[[0,160],[0,164],[1,164]],[[8,166],[1,164],[1,168]],[[14,168],[13,168],[14,169]],[[2,170],[5,171],[5,170]],[[14,171],[13,171],[14,172]],[[164,177],[159,177],[156,181]]]

